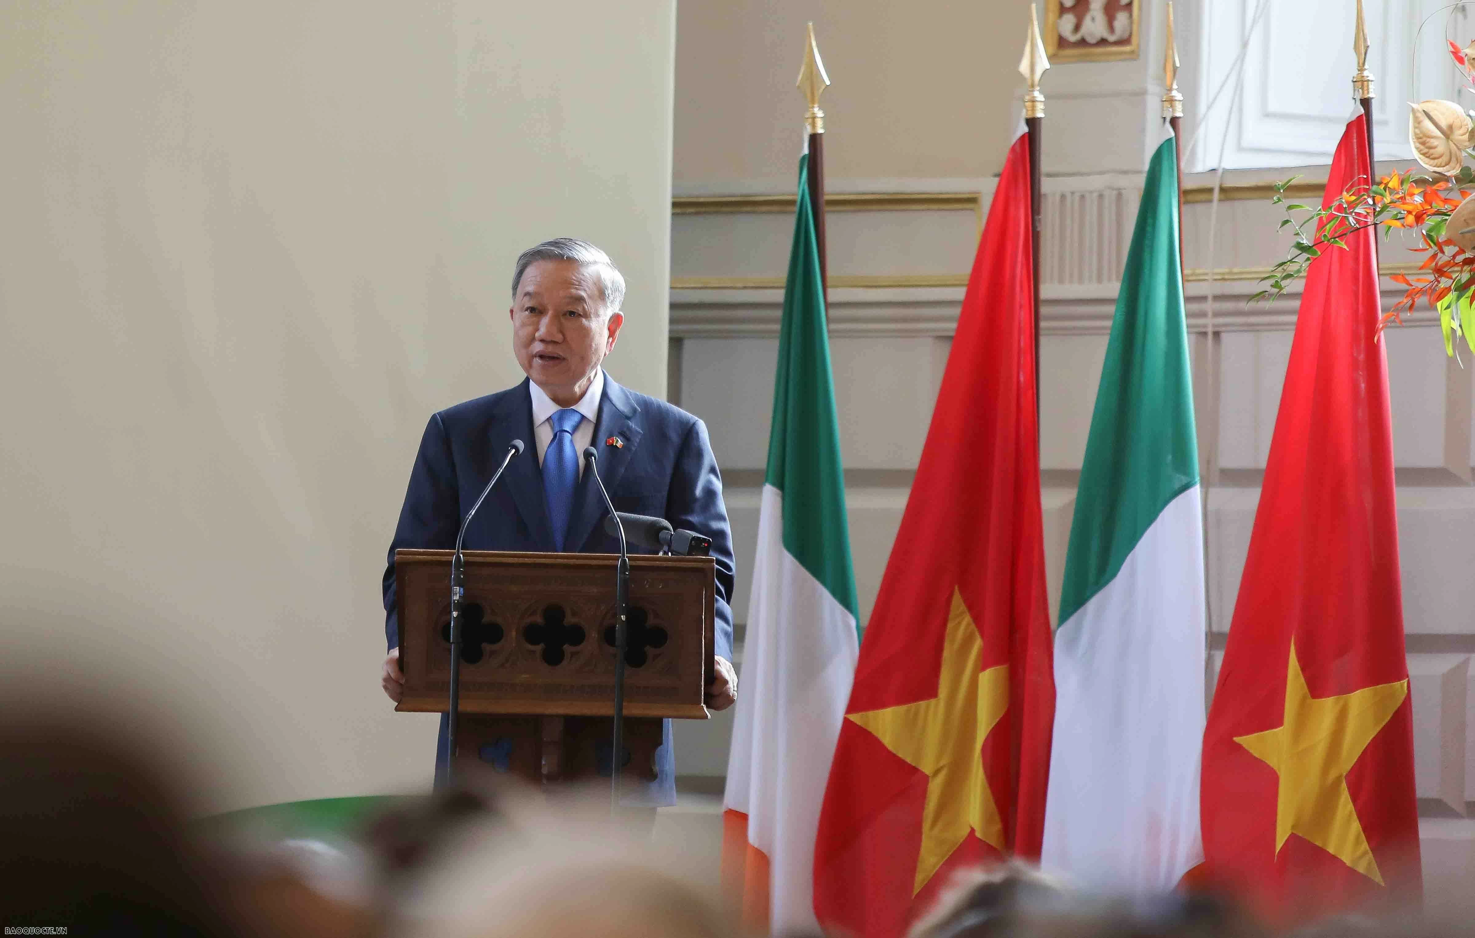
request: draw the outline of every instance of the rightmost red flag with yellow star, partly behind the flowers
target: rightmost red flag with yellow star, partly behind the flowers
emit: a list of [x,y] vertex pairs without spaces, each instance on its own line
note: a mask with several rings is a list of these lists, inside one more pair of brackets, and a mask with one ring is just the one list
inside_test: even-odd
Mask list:
[[[1367,178],[1358,114],[1323,204]],[[1420,882],[1376,245],[1344,242],[1307,274],[1204,736],[1208,878],[1288,919]]]

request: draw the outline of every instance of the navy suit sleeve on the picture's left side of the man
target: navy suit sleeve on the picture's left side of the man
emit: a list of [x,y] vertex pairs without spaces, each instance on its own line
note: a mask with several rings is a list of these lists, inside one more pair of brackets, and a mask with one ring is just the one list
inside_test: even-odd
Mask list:
[[460,496],[456,487],[456,463],[441,414],[432,414],[420,438],[420,451],[410,469],[410,487],[404,493],[400,524],[389,544],[389,562],[384,571],[384,634],[389,649],[400,646],[400,609],[394,591],[394,552],[401,547],[450,550],[456,546],[456,525],[460,519]]

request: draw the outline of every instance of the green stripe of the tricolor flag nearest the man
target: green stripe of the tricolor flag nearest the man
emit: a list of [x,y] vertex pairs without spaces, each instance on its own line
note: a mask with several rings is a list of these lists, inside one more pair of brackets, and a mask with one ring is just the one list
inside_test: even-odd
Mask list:
[[807,153],[799,158],[799,198],[783,288],[764,481],[783,493],[783,547],[835,602],[857,615],[808,159]]

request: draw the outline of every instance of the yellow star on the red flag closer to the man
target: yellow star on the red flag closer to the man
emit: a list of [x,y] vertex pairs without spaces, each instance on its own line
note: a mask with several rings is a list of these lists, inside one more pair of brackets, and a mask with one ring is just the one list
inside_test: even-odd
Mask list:
[[937,696],[850,714],[850,720],[928,776],[913,895],[971,833],[1004,850],[1003,820],[984,773],[982,748],[1009,708],[1009,667],[984,671],[982,656],[978,627],[954,588]]

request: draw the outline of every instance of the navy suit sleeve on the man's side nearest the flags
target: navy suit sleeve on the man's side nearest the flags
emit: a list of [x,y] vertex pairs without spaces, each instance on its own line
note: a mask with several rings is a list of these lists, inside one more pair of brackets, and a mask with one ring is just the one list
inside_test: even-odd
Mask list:
[[712,538],[711,556],[717,560],[717,602],[712,622],[714,653],[733,659],[733,535],[723,503],[723,476],[707,437],[707,425],[693,420],[676,459],[671,491],[667,494],[667,521],[671,527],[696,531]]

